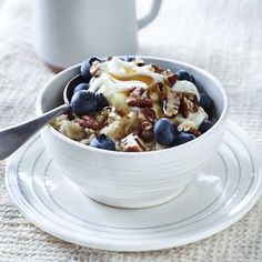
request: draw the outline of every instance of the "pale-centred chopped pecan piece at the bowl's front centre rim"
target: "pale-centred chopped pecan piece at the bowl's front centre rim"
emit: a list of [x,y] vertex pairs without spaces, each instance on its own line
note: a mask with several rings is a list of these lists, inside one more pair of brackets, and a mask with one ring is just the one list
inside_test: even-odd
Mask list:
[[145,145],[142,139],[138,134],[129,134],[121,140],[121,145],[124,151],[128,152],[142,152],[145,150]]

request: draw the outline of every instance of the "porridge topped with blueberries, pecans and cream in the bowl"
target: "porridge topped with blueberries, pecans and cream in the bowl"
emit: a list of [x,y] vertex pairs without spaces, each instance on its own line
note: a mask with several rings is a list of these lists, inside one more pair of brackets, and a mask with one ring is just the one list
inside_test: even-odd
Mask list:
[[81,66],[72,111],[52,127],[93,148],[142,152],[194,140],[213,124],[213,102],[184,70],[172,72],[140,58],[91,58]]

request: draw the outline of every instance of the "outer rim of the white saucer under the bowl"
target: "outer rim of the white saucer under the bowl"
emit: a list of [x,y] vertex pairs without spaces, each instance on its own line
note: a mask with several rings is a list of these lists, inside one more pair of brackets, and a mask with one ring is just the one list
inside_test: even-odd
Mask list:
[[[98,249],[98,250],[141,252],[141,251],[154,251],[154,250],[170,249],[170,248],[175,248],[175,246],[193,243],[193,242],[206,239],[211,235],[214,235],[214,234],[225,230],[226,228],[229,228],[233,223],[238,222],[244,214],[246,214],[254,206],[254,204],[256,203],[256,201],[259,200],[259,198],[262,194],[262,179],[261,179],[261,177],[262,177],[261,162],[262,161],[259,161],[259,160],[262,160],[262,158],[261,158],[261,153],[260,153],[258,147],[252,141],[252,139],[249,137],[249,134],[245,131],[243,131],[234,122],[229,121],[229,123],[226,124],[226,129],[229,129],[229,130],[233,129],[239,134],[239,137],[241,137],[241,138],[244,137],[245,141],[246,140],[249,141],[249,149],[251,152],[251,157],[253,160],[255,157],[254,162],[255,162],[256,169],[259,171],[259,173],[255,172],[255,174],[259,175],[259,182],[253,188],[253,192],[251,191],[251,194],[248,195],[249,199],[248,199],[246,203],[233,215],[231,215],[226,220],[223,220],[220,218],[220,220],[221,220],[220,223],[215,224],[213,228],[196,229],[195,234],[187,235],[187,238],[181,238],[180,240],[175,240],[175,243],[172,242],[172,236],[171,238],[163,236],[162,239],[165,241],[155,241],[155,240],[153,240],[153,242],[149,241],[150,244],[144,243],[143,246],[135,245],[135,241],[133,241],[132,245],[130,245],[130,243],[123,242],[123,241],[122,241],[121,245],[119,245],[119,244],[117,245],[115,242],[112,242],[112,244],[111,244],[108,239],[94,238],[93,235],[91,235],[90,239],[85,238],[84,240],[81,240],[81,239],[74,238],[72,234],[72,231],[70,231],[66,228],[60,228],[60,230],[61,230],[61,232],[60,232],[60,230],[58,230],[54,221],[50,221],[46,218],[41,218],[41,220],[40,220],[39,219],[40,213],[37,210],[34,210],[33,206],[28,204],[23,198],[21,198],[21,196],[19,198],[19,195],[17,195],[18,192],[13,192],[11,189],[12,185],[11,185],[11,181],[10,181],[10,175],[12,177],[11,179],[13,179],[16,177],[16,175],[13,175],[13,172],[17,171],[17,163],[21,159],[22,153],[24,151],[27,151],[28,148],[22,148],[21,150],[16,152],[13,155],[11,155],[11,158],[8,159],[8,163],[7,163],[7,168],[6,168],[6,188],[9,193],[10,199],[12,200],[12,203],[27,218],[28,221],[33,223],[36,226],[38,226],[43,232],[47,232],[56,238],[59,238],[60,240],[63,240],[63,241],[67,241],[67,242],[73,243],[73,244],[79,244],[82,246],[93,248],[93,249]],[[39,137],[38,135],[36,135],[36,137],[34,137],[34,140],[36,141],[39,140]],[[233,208],[243,203],[243,201],[245,199],[246,199],[246,196],[240,203],[234,205]],[[226,213],[228,212],[229,211],[226,211]],[[212,223],[215,223],[216,221],[218,220],[212,221],[210,223],[212,224]],[[160,240],[161,240],[161,238],[160,238]]]

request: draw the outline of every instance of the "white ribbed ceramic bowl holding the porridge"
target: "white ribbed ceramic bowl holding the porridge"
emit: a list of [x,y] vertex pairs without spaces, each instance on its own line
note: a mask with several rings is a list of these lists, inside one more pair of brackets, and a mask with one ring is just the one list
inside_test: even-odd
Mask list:
[[[91,148],[46,127],[41,134],[58,169],[93,200],[118,208],[145,208],[178,195],[219,149],[228,119],[228,98],[221,83],[196,67],[143,57],[172,71],[184,69],[214,101],[216,123],[200,138],[182,145],[152,152],[114,152]],[[79,73],[80,66],[57,74],[37,101],[38,114],[62,103],[62,90]]]

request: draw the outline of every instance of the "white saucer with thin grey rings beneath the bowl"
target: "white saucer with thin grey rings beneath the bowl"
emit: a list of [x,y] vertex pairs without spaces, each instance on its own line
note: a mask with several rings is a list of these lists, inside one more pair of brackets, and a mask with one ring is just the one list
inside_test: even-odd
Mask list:
[[262,192],[261,163],[250,138],[230,122],[216,155],[180,195],[154,208],[124,210],[82,194],[34,137],[9,160],[6,182],[27,219],[57,238],[95,249],[149,251],[192,243],[241,219]]

